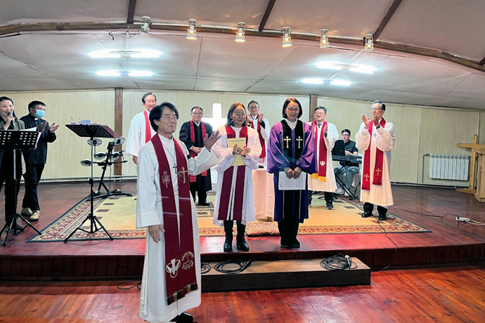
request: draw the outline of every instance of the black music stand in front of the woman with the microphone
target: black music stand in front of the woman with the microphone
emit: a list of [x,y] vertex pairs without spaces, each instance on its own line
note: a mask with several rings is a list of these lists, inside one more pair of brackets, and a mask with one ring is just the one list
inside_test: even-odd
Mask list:
[[[12,149],[13,150],[13,183],[15,185],[15,190],[17,189],[17,178],[16,178],[16,153],[15,150],[20,148],[23,150],[27,149],[35,149],[37,147],[37,141],[39,140],[40,133],[37,131],[26,131],[26,130],[4,130],[0,131],[0,149]],[[34,229],[39,235],[41,235],[41,232],[37,230],[37,228],[32,225],[29,221],[27,221],[22,214],[17,213],[15,211],[15,214],[13,215],[12,220],[10,223],[5,223],[4,228],[1,229],[0,231],[0,237],[4,233],[4,231],[7,232],[7,235],[5,237],[4,241],[4,246],[7,245],[8,241],[8,236],[12,233],[13,235],[18,235],[20,232],[17,232],[15,229],[12,230],[12,228],[17,228],[17,220],[20,218],[20,220],[24,221],[26,223],[25,227],[22,228],[25,229],[27,227],[30,227]]]

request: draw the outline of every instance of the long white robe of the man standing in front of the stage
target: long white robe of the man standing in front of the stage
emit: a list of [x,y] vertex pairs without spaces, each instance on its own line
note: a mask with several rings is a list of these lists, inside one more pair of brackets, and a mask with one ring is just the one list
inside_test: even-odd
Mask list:
[[[160,136],[160,134],[158,135]],[[175,205],[179,214],[179,184],[176,169],[172,166],[174,160],[174,141],[160,136],[162,145],[167,155],[167,161],[172,171],[172,185],[174,187]],[[188,155],[186,145],[177,140],[183,154]],[[203,149],[195,159],[188,159],[188,173],[197,175],[217,164],[217,158],[213,152]],[[187,178],[188,180],[188,178]],[[144,145],[138,155],[138,197],[136,199],[136,228],[148,228],[149,225],[164,225],[163,205],[160,191],[160,174],[158,170],[157,154],[151,140]],[[190,192],[189,192],[190,195]],[[195,272],[197,276],[198,289],[192,291],[179,301],[167,305],[167,290],[165,284],[165,239],[163,232],[160,232],[162,241],[155,243],[146,234],[145,263],[143,265],[143,279],[141,283],[140,310],[138,315],[147,321],[169,321],[181,312],[196,308],[200,305],[200,242],[199,229],[197,224],[197,213],[193,199],[192,204],[192,232],[179,232],[179,237],[193,235],[195,253]],[[180,218],[179,230],[180,230]]]

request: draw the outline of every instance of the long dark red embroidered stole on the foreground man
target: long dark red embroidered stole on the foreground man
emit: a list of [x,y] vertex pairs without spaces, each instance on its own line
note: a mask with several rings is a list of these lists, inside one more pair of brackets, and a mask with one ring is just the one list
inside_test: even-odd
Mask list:
[[[195,275],[195,253],[193,242],[192,205],[190,204],[190,188],[188,185],[187,158],[174,140],[177,163],[177,179],[179,185],[179,217],[180,232],[177,221],[176,201],[172,185],[171,165],[165,154],[158,133],[152,138],[157,154],[158,171],[160,173],[160,192],[162,195],[163,227],[165,232],[165,281],[167,283],[167,305],[179,300],[190,291],[198,289]],[[165,188],[163,188],[165,187]],[[151,239],[151,238],[149,238]]]

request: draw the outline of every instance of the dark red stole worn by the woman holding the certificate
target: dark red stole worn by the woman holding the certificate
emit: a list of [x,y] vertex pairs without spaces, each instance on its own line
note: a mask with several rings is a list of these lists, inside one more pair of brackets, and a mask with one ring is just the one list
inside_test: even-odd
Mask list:
[[[226,126],[227,138],[235,138],[235,131],[231,126]],[[246,138],[247,126],[243,126],[239,132],[239,138]],[[243,148],[243,147],[240,147]],[[234,167],[238,174],[235,176],[235,191],[233,194],[234,203],[231,203],[231,187],[233,185]],[[231,166],[224,171],[221,187],[221,199],[219,201],[218,220],[243,220],[243,201],[244,201],[244,178],[246,166]],[[233,211],[229,212],[229,207],[233,204]],[[231,218],[232,213],[232,218]]]

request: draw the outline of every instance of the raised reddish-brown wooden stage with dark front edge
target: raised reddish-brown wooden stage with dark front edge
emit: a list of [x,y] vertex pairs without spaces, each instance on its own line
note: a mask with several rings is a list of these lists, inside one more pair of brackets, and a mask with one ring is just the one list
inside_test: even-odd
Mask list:
[[[115,188],[136,192],[136,182],[112,183],[111,189]],[[247,237],[251,249],[247,253],[224,253],[224,237],[202,237],[202,261],[316,259],[343,253],[360,259],[373,270],[389,265],[394,255],[392,269],[476,265],[485,261],[485,227],[455,220],[456,216],[462,216],[485,222],[485,204],[477,202],[472,195],[444,188],[394,185],[392,190],[395,204],[389,212],[432,230],[428,233],[389,234],[397,245],[396,252],[396,246],[384,233],[300,235],[302,247],[290,250],[280,248],[279,237]],[[41,217],[34,225],[39,230],[45,228],[88,194],[87,183],[41,183]],[[21,188],[19,204],[22,197]],[[0,205],[0,213],[4,213],[3,195]],[[26,229],[20,235],[10,237],[7,246],[0,245],[1,280],[121,280],[141,277],[144,239],[27,243],[33,235],[32,229]],[[5,234],[1,242],[4,237]]]

